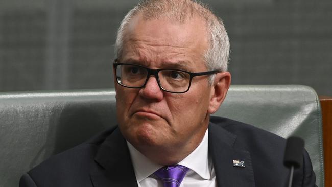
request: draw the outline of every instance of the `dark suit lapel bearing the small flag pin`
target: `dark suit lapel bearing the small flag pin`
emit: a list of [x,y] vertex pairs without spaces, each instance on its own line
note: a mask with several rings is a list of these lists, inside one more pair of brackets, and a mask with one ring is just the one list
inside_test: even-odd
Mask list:
[[[236,142],[231,134],[214,123],[209,124],[209,153],[214,163],[218,187],[255,186],[250,153]],[[245,162],[245,167],[234,167],[233,160]]]

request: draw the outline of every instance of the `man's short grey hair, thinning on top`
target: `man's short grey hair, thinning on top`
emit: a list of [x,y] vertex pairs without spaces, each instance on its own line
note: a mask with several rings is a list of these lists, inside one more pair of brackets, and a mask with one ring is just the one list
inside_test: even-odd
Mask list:
[[[206,5],[192,0],[145,0],[136,5],[127,13],[118,28],[114,49],[115,58],[121,57],[126,27],[138,13],[141,13],[146,20],[167,17],[180,23],[193,17],[203,18],[209,32],[209,48],[205,51],[203,59],[206,68],[209,71],[214,69],[227,71],[229,38],[223,21]],[[210,76],[210,84],[213,83],[214,77],[214,75]]]

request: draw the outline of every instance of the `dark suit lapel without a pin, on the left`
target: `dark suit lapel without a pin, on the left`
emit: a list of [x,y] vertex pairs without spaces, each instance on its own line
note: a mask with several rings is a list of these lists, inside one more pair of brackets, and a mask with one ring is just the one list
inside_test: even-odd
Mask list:
[[127,143],[116,128],[99,148],[90,170],[94,187],[138,186]]

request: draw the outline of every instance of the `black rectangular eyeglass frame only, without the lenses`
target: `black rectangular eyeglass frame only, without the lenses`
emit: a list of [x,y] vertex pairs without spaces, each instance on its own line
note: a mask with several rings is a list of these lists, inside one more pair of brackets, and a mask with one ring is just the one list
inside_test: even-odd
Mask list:
[[[126,85],[121,84],[121,83],[117,80],[117,71],[116,71],[116,67],[117,67],[118,65],[132,65],[132,66],[137,66],[137,67],[140,67],[140,68],[144,68],[144,69],[146,69],[147,72],[148,72],[148,74],[147,74],[147,78],[146,78],[144,84],[143,84],[142,86],[139,86],[139,87],[131,87],[131,86],[126,86]],[[207,71],[207,72],[197,72],[197,73],[193,73],[193,72],[185,71],[185,70],[182,70],[182,69],[150,69],[150,68],[148,68],[148,67],[141,66],[141,65],[137,65],[137,64],[130,64],[130,63],[117,63],[116,60],[114,60],[113,67],[114,67],[114,71],[115,71],[116,82],[117,82],[119,85],[123,86],[123,87],[127,87],[127,88],[143,88],[143,87],[147,84],[147,82],[148,82],[150,76],[151,76],[151,75],[154,75],[154,76],[156,77],[156,80],[157,80],[157,83],[158,83],[159,88],[160,88],[161,90],[163,90],[163,91],[170,92],[170,93],[185,93],[185,92],[189,91],[190,86],[191,86],[191,84],[192,84],[192,79],[193,79],[194,77],[196,77],[196,76],[212,75],[212,74],[216,74],[216,73],[222,72],[221,70],[212,70],[212,71]],[[158,73],[159,73],[160,71],[163,71],[163,70],[185,72],[185,73],[189,74],[189,75],[190,75],[190,78],[189,78],[188,89],[185,90],[185,91],[181,91],[181,92],[175,92],[175,91],[168,91],[168,90],[165,90],[164,88],[162,88],[161,85],[160,85],[160,81],[159,81]]]

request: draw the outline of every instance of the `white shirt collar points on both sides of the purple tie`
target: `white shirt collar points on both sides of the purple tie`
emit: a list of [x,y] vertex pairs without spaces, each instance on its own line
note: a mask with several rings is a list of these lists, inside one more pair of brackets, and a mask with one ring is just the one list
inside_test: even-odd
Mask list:
[[[133,145],[127,141],[131,161],[138,182],[149,177],[159,168],[163,167],[152,162],[146,156],[141,154]],[[206,130],[202,142],[197,148],[178,163],[196,172],[203,179],[210,179],[211,161],[208,159],[208,130]]]

